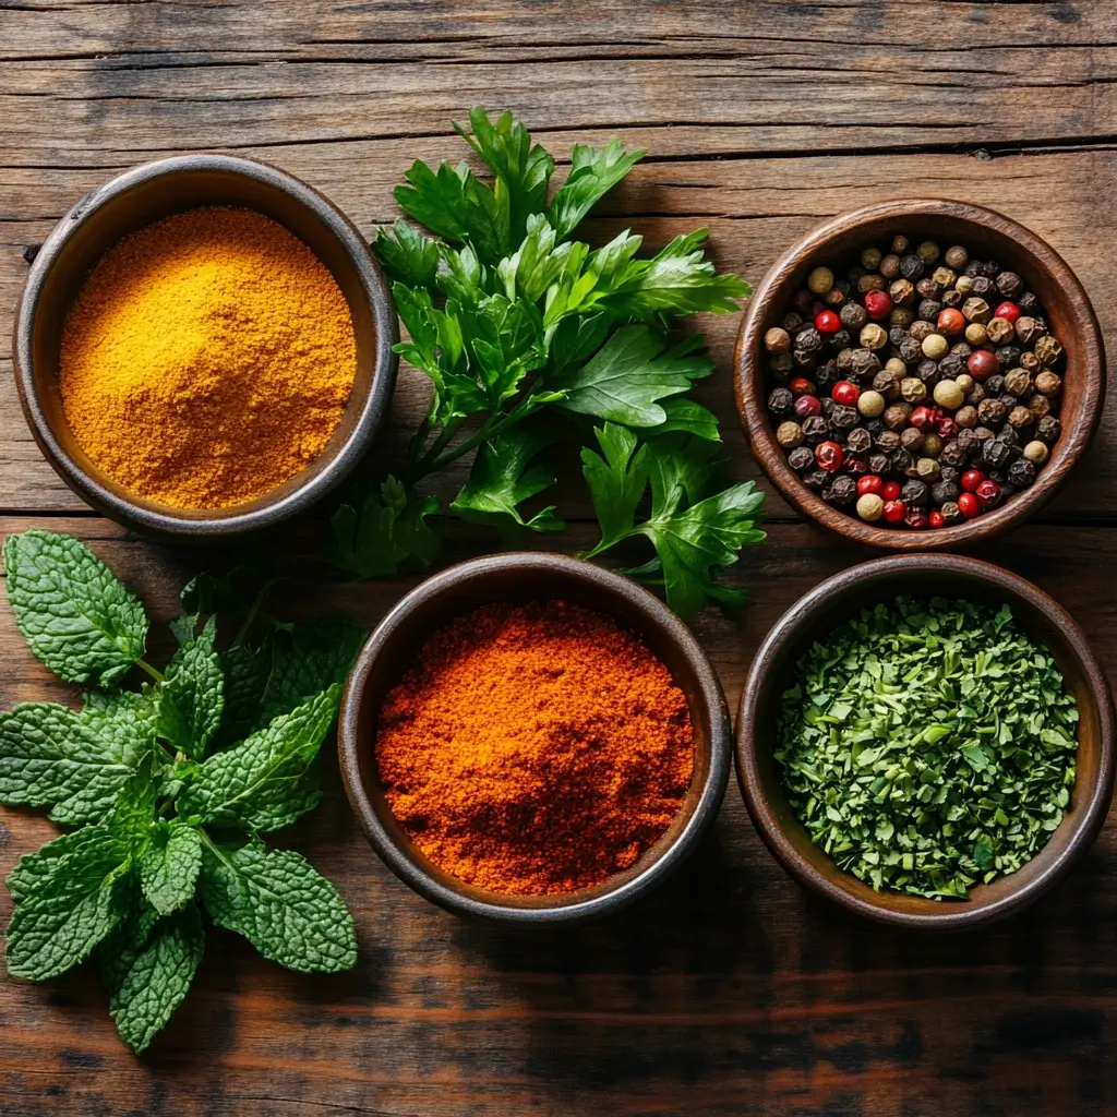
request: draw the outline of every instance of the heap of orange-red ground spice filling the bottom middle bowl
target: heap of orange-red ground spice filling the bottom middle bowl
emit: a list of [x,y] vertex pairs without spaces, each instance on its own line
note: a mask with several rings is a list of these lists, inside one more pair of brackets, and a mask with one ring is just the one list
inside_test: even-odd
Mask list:
[[513,895],[571,892],[634,865],[694,771],[667,668],[564,601],[488,604],[436,633],[388,695],[375,752],[416,844]]

